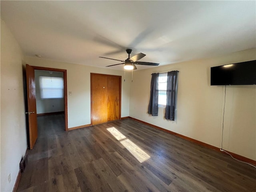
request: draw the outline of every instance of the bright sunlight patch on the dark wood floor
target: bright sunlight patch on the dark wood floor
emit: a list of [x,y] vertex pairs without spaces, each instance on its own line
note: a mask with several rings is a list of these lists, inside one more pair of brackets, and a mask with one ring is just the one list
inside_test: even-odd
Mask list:
[[127,139],[120,131],[114,127],[107,128],[107,130],[118,140],[120,143],[140,162],[144,162],[149,159],[150,156],[146,154],[141,148],[139,148],[130,139]]

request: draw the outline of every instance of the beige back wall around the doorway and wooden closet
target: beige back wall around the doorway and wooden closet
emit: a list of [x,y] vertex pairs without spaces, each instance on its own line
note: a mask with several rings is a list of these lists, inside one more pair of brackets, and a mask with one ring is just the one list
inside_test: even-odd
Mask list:
[[36,57],[26,57],[26,64],[67,70],[68,95],[68,128],[90,124],[90,73],[122,76],[121,117],[129,116],[130,73],[124,71],[57,62]]

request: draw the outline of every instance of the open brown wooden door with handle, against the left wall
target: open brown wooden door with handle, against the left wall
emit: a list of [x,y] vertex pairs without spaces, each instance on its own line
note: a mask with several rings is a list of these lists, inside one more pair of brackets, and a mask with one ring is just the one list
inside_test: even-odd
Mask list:
[[28,127],[30,149],[34,147],[37,139],[37,116],[36,116],[36,84],[34,68],[26,65],[27,98],[28,98]]

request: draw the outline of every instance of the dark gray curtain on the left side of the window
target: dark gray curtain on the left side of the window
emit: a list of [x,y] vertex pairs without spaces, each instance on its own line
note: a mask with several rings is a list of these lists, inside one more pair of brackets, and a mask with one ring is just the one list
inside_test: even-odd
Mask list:
[[159,73],[153,73],[151,77],[148,114],[152,116],[158,116],[158,76]]

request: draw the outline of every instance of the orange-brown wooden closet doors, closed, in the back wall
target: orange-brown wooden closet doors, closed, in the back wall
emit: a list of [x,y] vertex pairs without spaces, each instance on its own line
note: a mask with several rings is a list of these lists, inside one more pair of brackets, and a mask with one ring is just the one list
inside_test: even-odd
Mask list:
[[120,119],[121,76],[91,74],[91,124]]

